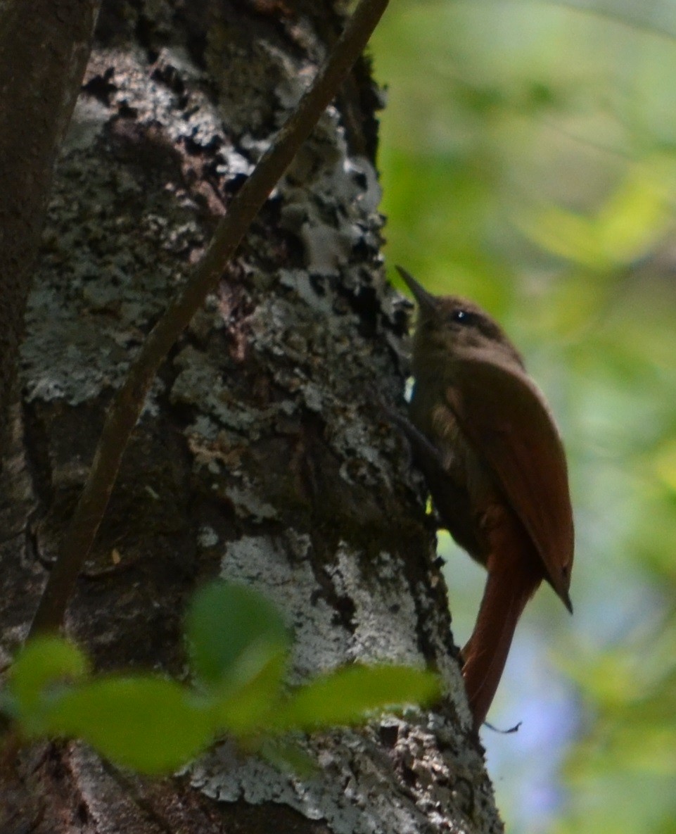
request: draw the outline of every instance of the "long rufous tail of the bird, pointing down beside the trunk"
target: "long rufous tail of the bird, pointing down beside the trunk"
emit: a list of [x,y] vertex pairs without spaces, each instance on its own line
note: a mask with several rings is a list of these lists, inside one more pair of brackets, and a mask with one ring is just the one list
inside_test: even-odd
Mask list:
[[[520,545],[520,552],[512,546],[498,550],[498,558],[489,557],[477,623],[463,649],[463,678],[476,730],[498,690],[518,618],[543,579],[537,559],[528,558],[529,554],[524,558],[523,540]],[[510,553],[514,558],[509,558]]]

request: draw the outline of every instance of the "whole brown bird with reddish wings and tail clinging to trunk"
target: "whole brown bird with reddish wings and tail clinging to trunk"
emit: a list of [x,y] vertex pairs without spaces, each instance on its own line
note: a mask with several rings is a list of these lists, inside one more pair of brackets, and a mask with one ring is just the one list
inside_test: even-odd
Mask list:
[[568,470],[548,404],[498,324],[473,302],[437,298],[398,270],[418,302],[407,434],[443,525],[488,571],[463,649],[478,729],[540,582],[573,610]]

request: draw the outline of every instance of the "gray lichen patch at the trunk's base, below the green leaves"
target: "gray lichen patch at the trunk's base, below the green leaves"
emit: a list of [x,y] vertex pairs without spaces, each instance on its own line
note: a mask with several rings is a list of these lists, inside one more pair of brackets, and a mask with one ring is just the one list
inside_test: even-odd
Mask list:
[[502,831],[489,782],[476,783],[478,755],[463,752],[453,734],[442,715],[410,710],[361,731],[297,739],[317,763],[309,778],[242,759],[225,744],[196,762],[190,779],[220,801],[282,802],[334,834]]

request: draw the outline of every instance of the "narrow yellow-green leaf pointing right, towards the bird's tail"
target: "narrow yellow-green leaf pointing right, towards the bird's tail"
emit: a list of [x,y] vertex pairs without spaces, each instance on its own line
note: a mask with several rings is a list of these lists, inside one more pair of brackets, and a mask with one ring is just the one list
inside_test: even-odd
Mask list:
[[354,724],[386,706],[438,697],[438,677],[409,666],[348,666],[302,686],[275,715],[278,729]]

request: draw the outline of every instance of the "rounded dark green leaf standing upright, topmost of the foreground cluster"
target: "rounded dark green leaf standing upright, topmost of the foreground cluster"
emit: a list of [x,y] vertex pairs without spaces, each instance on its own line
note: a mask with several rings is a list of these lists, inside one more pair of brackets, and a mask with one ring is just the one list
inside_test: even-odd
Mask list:
[[193,669],[208,686],[244,686],[289,648],[277,608],[257,591],[226,582],[198,591],[186,633]]

